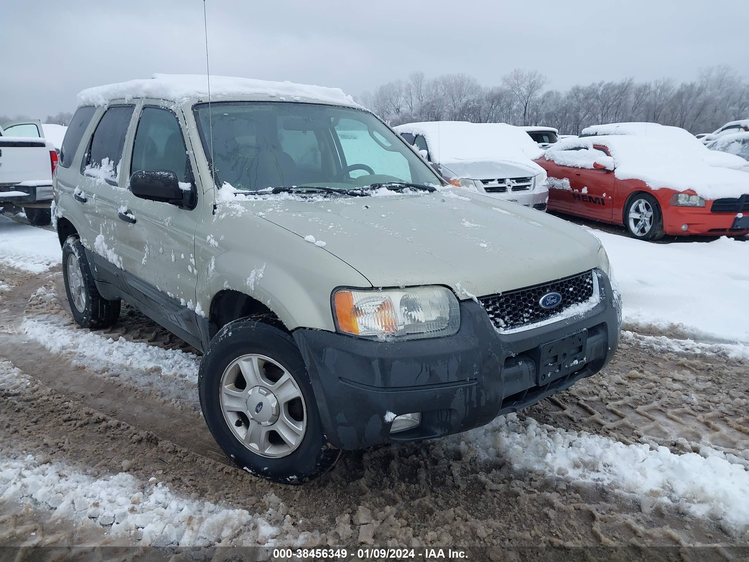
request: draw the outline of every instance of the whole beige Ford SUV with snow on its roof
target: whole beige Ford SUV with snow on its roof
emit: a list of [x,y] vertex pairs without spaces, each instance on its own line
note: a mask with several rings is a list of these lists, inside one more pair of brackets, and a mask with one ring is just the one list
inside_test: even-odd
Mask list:
[[583,229],[446,184],[337,88],[207,91],[79,94],[55,225],[76,322],[112,325],[124,299],[198,348],[204,420],[240,468],[301,483],[341,450],[525,408],[616,351]]

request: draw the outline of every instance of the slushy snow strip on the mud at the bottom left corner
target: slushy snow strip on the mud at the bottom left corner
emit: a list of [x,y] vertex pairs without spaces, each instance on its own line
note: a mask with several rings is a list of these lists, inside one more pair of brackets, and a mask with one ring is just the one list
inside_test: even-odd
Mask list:
[[288,507],[272,492],[249,513],[175,494],[156,478],[130,474],[94,478],[33,456],[0,460],[0,499],[54,510],[52,520],[98,524],[113,538],[142,546],[303,546],[316,537],[294,528]]

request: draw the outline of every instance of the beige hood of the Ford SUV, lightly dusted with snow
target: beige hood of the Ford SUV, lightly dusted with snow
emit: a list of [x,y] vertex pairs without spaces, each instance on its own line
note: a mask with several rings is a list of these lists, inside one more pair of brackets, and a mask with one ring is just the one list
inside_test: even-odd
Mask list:
[[466,299],[599,265],[600,243],[579,226],[460,188],[247,203],[375,287],[447,285]]

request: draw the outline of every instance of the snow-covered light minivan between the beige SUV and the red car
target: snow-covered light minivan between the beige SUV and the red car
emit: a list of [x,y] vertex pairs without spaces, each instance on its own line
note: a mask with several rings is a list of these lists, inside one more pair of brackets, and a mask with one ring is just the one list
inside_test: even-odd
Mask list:
[[505,123],[430,121],[395,130],[453,184],[538,211],[546,210],[544,154],[520,127]]

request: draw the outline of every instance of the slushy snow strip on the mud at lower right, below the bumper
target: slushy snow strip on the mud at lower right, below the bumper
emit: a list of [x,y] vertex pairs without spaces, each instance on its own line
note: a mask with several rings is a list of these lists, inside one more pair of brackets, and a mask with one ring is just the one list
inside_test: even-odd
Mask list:
[[446,441],[460,443],[464,454],[504,459],[518,471],[633,495],[646,513],[664,502],[694,516],[723,519],[739,530],[749,525],[749,472],[709,447],[700,454],[676,455],[667,447],[652,450],[645,444],[625,445],[601,435],[539,425],[532,418],[521,421],[517,414],[497,417],[488,426]]

